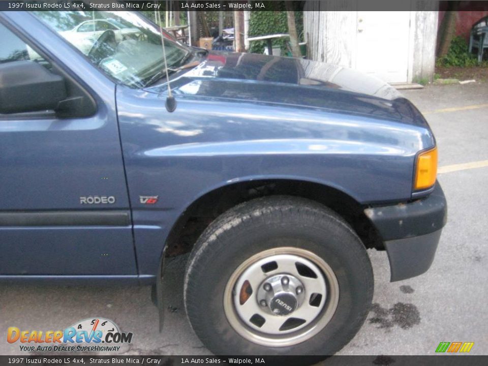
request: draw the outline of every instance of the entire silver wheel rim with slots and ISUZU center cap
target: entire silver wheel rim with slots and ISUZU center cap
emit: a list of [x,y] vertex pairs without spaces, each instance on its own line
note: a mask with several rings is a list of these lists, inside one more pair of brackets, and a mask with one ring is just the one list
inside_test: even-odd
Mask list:
[[263,346],[304,342],[330,321],[339,302],[332,268],[314,253],[269,249],[241,263],[224,291],[227,320],[245,339]]

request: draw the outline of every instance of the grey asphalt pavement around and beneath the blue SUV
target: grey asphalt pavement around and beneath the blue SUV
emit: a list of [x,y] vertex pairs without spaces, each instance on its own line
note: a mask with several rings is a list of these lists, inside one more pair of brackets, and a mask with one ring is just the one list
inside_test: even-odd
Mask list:
[[[389,282],[386,252],[370,250],[375,274],[373,308],[341,355],[433,355],[439,342],[474,342],[470,354],[488,354],[488,83],[427,86],[402,93],[425,113],[439,147],[439,174],[448,201],[448,222],[431,269]],[[479,163],[481,162],[481,163]],[[449,169],[447,169],[449,170]],[[441,168],[442,171],[442,168]],[[133,332],[126,355],[209,355],[185,315],[182,284],[186,257],[169,263],[165,328],[149,287],[0,284],[0,354],[19,354],[6,342],[9,326],[63,329],[78,320],[104,317]],[[118,354],[115,352],[114,354]]]

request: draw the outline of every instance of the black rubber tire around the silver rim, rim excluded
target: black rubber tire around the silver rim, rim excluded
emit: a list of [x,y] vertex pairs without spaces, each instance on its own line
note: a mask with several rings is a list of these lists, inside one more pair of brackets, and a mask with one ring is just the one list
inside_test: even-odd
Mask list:
[[[337,278],[340,295],[330,320],[314,337],[290,346],[267,347],[242,337],[231,326],[224,311],[224,292],[242,262],[283,243],[326,261]],[[339,215],[311,200],[271,196],[235,206],[202,233],[188,260],[184,294],[195,333],[215,354],[332,355],[363,324],[373,287],[368,254]]]

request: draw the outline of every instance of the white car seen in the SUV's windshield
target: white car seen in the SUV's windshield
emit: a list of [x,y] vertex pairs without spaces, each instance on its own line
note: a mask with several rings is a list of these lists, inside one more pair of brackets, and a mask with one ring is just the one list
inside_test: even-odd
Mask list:
[[84,54],[88,54],[95,42],[107,31],[112,31],[115,42],[138,39],[142,34],[139,29],[127,27],[114,19],[85,20],[70,31],[59,32]]

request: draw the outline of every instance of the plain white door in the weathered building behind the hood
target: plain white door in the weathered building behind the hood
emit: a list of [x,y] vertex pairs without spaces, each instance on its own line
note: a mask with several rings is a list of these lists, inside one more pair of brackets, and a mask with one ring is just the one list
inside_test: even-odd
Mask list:
[[407,82],[409,38],[409,11],[357,12],[356,69]]

